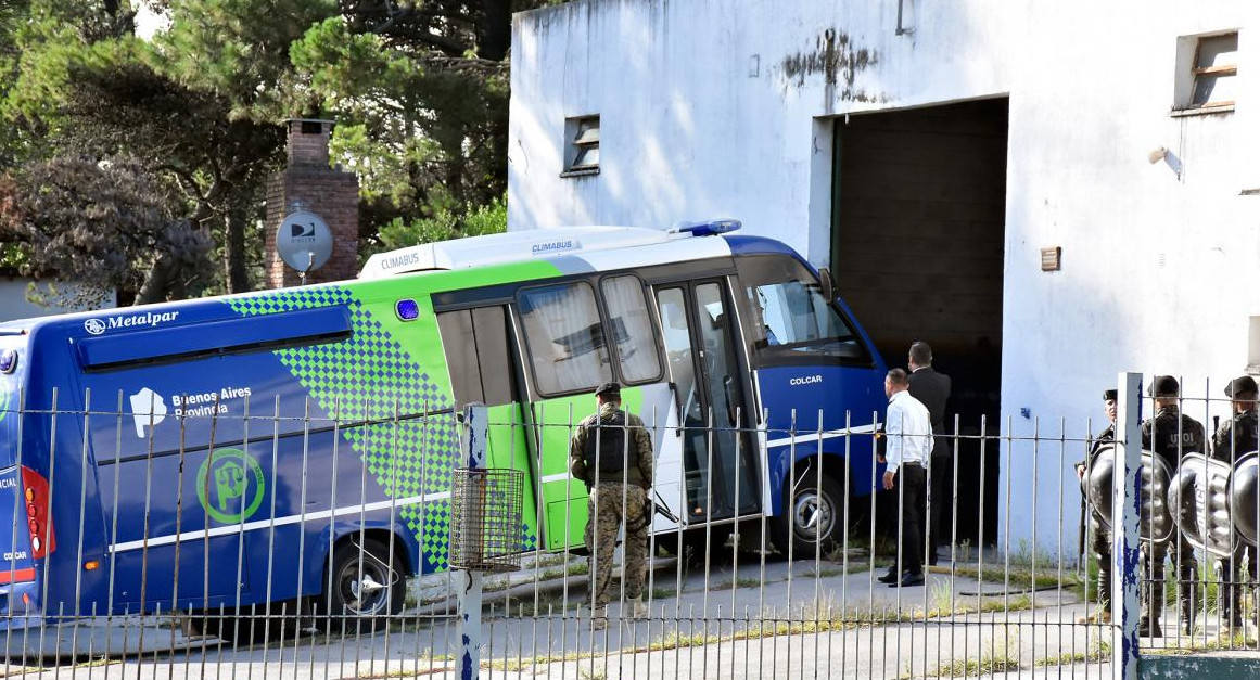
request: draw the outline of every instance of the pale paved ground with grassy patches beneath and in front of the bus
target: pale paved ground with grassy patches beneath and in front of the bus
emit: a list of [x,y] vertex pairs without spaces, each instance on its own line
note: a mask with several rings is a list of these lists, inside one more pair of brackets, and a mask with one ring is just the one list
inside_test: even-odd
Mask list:
[[[483,646],[488,665],[481,676],[1109,676],[1100,641],[1110,630],[1077,623],[1086,608],[1068,589],[980,597],[975,593],[1000,589],[948,573],[930,574],[926,586],[896,589],[876,583],[878,572],[849,567],[845,574],[839,563],[824,562],[816,569],[796,563],[789,569],[782,560],[762,567],[751,559],[737,570],[731,564],[713,567],[706,577],[703,570],[680,573],[672,563],[654,575],[649,620],[622,621],[614,606],[610,627],[593,635],[580,608],[581,578],[570,579],[567,588],[563,581],[530,582],[489,593]],[[504,603],[510,616],[504,616]],[[542,616],[533,616],[536,603]],[[984,611],[975,611],[978,606]],[[925,618],[925,611],[932,616]],[[6,670],[10,676],[76,680],[454,677],[457,633],[445,612],[450,609],[441,602],[417,607],[406,630],[388,635],[304,635],[249,649],[210,642],[174,655],[63,662],[43,672],[10,662]],[[775,627],[784,630],[764,635]],[[150,628],[151,643],[161,646],[164,630],[171,640],[169,628]],[[1082,662],[1087,657],[1092,661]]]

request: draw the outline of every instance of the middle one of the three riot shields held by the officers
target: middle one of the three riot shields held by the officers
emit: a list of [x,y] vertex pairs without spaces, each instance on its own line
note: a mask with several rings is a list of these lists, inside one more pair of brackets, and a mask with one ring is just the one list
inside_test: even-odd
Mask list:
[[1168,506],[1182,535],[1217,557],[1232,555],[1239,543],[1230,523],[1228,486],[1228,463],[1187,453],[1168,487]]

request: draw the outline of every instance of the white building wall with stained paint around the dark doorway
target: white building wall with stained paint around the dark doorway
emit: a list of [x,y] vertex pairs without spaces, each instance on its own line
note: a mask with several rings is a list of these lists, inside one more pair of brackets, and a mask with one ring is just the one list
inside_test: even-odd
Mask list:
[[[1087,417],[1101,428],[1118,371],[1183,375],[1187,397],[1211,378],[1220,397],[1247,364],[1260,195],[1240,194],[1260,188],[1256,8],[903,0],[902,35],[896,0],[581,0],[520,14],[509,228],[736,217],[825,264],[832,118],[1009,96],[1002,427],[1084,437]],[[1169,116],[1178,37],[1226,29],[1241,29],[1236,111]],[[561,178],[564,118],[586,113],[601,116],[601,173]],[[1149,162],[1160,147],[1167,159]],[[1042,272],[1053,246],[1062,271]],[[1188,411],[1205,423],[1225,413]],[[1075,515],[1077,491],[1060,495],[1057,477],[1080,455],[1037,453],[1043,545],[1061,500]],[[1004,456],[1023,504],[1031,446]],[[1031,536],[1031,514],[1011,519],[1013,538]]]

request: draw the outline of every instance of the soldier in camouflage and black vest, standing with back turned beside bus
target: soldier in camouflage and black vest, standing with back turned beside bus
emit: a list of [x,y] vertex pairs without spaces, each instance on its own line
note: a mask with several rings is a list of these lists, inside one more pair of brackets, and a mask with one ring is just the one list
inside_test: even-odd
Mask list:
[[643,419],[621,409],[621,385],[604,383],[595,392],[598,412],[578,423],[570,442],[570,472],[586,484],[590,519],[586,548],[591,552],[591,625],[607,625],[609,582],[617,533],[625,526],[625,596],[634,616],[646,613],[641,602],[648,574],[648,526],[651,523],[651,437]]

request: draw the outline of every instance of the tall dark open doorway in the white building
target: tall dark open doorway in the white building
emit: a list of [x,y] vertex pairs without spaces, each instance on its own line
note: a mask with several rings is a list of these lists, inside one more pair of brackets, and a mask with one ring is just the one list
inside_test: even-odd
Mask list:
[[[906,365],[915,340],[932,346],[954,380],[948,426],[958,414],[963,436],[979,434],[982,418],[998,432],[1008,111],[1000,98],[835,122],[837,287],[890,366]],[[983,515],[989,544],[998,450],[959,443],[958,536],[979,544]]]

